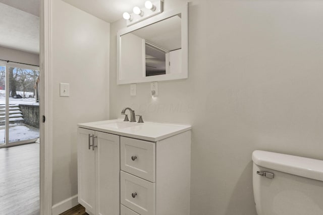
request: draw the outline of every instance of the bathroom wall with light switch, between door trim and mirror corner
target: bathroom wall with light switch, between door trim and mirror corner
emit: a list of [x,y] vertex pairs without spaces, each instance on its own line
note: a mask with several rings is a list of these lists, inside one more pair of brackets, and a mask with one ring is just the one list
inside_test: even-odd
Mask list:
[[[76,124],[109,118],[110,24],[61,0],[52,4],[52,204],[57,204],[77,194]],[[59,96],[61,82],[70,84],[70,97]]]

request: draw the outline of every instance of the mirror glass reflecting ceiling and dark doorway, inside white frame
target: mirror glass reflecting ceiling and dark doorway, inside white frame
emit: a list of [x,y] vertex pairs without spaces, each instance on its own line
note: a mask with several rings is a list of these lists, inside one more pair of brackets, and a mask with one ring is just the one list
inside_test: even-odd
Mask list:
[[[121,39],[121,50],[123,50],[121,68],[137,69],[138,76],[142,74],[138,70],[145,69],[144,76],[146,77],[181,73],[180,15],[122,35]],[[142,44],[144,48],[140,51]],[[135,50],[136,53],[129,49]],[[142,54],[138,55],[138,52]],[[145,56],[142,59],[144,62],[140,60],[141,56]]]

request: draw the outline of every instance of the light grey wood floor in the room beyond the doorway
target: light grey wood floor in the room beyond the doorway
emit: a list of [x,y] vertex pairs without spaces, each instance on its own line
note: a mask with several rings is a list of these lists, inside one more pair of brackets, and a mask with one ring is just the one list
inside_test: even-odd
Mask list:
[[0,149],[0,214],[39,215],[39,144]]

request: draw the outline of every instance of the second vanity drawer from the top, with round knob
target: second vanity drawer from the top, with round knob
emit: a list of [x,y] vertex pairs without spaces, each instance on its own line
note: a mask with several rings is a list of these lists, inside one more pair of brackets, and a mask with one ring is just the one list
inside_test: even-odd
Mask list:
[[121,203],[141,215],[155,214],[155,183],[120,172]]

